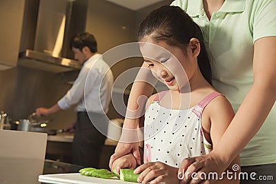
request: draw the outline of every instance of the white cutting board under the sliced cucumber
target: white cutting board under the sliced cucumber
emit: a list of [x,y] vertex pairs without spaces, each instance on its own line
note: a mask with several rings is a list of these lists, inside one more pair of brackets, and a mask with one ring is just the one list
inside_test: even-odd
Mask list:
[[[120,181],[119,179],[104,179],[90,176],[83,176],[80,173],[68,174],[44,174],[39,175],[39,181],[55,184],[131,184],[133,182]],[[135,183],[137,184],[137,183]]]

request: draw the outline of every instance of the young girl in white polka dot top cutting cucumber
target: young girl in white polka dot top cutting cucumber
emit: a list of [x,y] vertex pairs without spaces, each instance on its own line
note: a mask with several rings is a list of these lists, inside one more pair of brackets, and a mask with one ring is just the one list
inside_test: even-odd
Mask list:
[[[202,32],[181,8],[162,6],[154,10],[141,23],[138,36],[148,68],[169,90],[148,99],[144,164],[137,167],[130,153],[115,160],[112,170],[137,167],[135,172],[141,173],[138,182],[179,183],[181,161],[208,154],[233,119],[233,109],[212,87]],[[228,170],[234,164],[239,165],[239,157]],[[218,177],[218,183],[239,183],[237,179],[224,177],[222,181]]]

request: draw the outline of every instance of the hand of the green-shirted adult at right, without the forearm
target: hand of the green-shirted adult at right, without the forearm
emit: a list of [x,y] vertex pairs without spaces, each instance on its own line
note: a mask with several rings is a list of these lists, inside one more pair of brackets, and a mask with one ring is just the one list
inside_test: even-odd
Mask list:
[[[179,167],[177,175],[181,178],[180,184],[210,184],[215,181],[208,180],[208,174],[210,172],[216,172],[217,176],[221,176],[221,173],[226,170],[227,166],[228,163],[224,162],[216,154],[210,152],[203,156],[184,159]],[[205,176],[207,177],[207,180],[201,180],[201,178],[204,178]]]

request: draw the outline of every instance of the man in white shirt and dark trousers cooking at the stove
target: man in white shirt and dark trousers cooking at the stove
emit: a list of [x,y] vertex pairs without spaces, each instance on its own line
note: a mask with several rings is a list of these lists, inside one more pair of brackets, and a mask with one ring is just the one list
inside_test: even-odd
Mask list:
[[92,34],[77,34],[72,39],[71,48],[75,59],[83,65],[79,76],[63,98],[51,108],[37,108],[36,114],[47,116],[77,104],[77,121],[67,130],[75,129],[72,163],[98,167],[106,139],[102,130],[106,130],[108,125],[106,112],[111,99],[113,75],[101,54],[97,53],[97,41]]

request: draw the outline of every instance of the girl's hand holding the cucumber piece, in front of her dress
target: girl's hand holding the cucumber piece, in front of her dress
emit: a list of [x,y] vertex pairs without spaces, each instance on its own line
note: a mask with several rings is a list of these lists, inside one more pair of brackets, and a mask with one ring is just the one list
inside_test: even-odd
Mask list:
[[137,167],[135,173],[141,173],[137,179],[139,183],[147,183],[150,181],[150,184],[160,182],[178,184],[177,171],[178,168],[171,167],[165,163],[149,162]]

